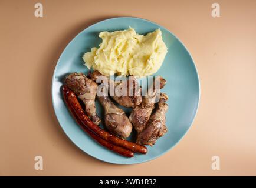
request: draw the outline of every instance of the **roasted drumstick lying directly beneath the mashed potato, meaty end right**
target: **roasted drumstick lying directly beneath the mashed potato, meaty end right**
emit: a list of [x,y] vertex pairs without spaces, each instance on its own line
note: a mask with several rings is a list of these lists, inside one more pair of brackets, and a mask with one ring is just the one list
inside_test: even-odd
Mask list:
[[[99,71],[94,71],[93,73],[89,73],[90,78],[96,82],[97,78],[101,76],[101,79],[107,79],[108,86],[115,86],[118,88],[125,88],[126,87],[126,92],[127,96],[111,96],[119,105],[125,106],[125,107],[135,107],[139,105],[142,102],[142,96],[140,95],[141,89],[138,86],[138,82],[135,76],[129,76],[129,80],[127,82],[122,82],[120,84],[117,84],[114,82],[114,80],[109,79],[107,76],[101,75]],[[130,93],[133,94],[133,96],[129,96],[129,83],[132,83],[133,85],[133,90],[130,91]],[[122,93],[122,91],[120,91]]]

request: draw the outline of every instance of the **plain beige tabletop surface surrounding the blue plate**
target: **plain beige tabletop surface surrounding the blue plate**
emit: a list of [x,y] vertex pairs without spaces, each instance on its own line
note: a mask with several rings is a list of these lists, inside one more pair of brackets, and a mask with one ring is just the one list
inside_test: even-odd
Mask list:
[[[35,18],[42,2],[44,18]],[[212,18],[211,5],[221,5]],[[149,19],[195,59],[201,101],[192,128],[150,162],[114,165],[83,153],[58,125],[51,78],[65,46],[115,16]],[[256,1],[0,1],[0,175],[256,175]],[[34,157],[44,170],[34,170]],[[221,170],[211,169],[211,157]]]

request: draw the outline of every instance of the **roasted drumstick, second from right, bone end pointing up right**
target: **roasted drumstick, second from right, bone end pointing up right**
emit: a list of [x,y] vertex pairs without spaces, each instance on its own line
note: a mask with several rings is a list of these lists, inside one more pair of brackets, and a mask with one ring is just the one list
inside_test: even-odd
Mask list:
[[[162,89],[166,84],[166,80],[162,77],[160,77],[159,80],[159,88]],[[152,90],[152,93],[143,96],[142,103],[139,106],[136,106],[129,116],[130,122],[132,122],[133,127],[137,132],[142,132],[143,129],[145,129],[152,110],[155,108],[156,93],[160,92],[155,89],[155,81],[149,90]]]

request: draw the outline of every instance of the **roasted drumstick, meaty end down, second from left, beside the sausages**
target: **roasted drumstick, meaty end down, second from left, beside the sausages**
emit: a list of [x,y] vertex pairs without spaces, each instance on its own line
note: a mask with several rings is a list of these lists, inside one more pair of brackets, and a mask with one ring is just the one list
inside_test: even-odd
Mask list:
[[132,132],[132,124],[122,109],[117,108],[108,96],[97,96],[105,110],[105,125],[114,135],[126,139]]

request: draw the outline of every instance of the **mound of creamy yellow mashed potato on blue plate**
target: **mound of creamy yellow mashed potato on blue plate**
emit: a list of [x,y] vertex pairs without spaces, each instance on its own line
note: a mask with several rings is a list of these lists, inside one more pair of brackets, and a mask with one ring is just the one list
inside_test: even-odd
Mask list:
[[85,65],[103,75],[152,75],[159,70],[167,48],[160,29],[139,35],[133,28],[123,31],[100,32],[102,43],[84,53]]

